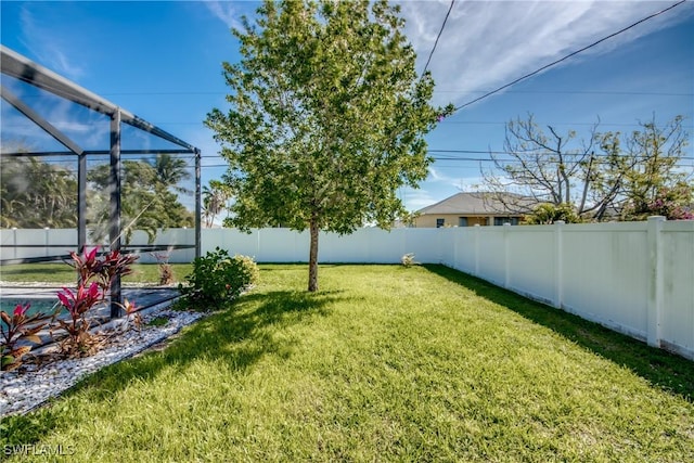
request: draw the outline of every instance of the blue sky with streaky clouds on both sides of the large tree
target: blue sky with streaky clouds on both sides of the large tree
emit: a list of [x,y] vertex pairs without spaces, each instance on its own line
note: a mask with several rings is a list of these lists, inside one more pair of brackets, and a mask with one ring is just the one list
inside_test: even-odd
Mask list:
[[[450,1],[402,1],[421,70]],[[429,64],[435,103],[461,105],[586,47],[676,1],[460,1]],[[203,150],[203,182],[223,160],[202,124],[224,110],[223,61],[239,59],[229,31],[257,3],[245,1],[1,2],[1,42]],[[427,136],[438,159],[415,210],[480,184],[488,151],[503,149],[504,124],[528,113],[542,126],[587,136],[628,132],[639,120],[685,117],[694,133],[694,3],[629,29],[505,91],[457,112]],[[440,153],[460,150],[473,153]],[[694,143],[684,166],[694,169]],[[480,153],[475,153],[480,152]],[[444,159],[444,157],[453,157]],[[473,160],[481,159],[481,160]]]

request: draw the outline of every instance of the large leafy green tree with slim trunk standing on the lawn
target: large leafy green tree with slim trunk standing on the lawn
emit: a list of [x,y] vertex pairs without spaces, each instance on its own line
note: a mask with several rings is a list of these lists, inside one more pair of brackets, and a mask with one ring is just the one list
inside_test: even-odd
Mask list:
[[266,1],[243,24],[242,59],[223,63],[231,107],[205,121],[229,163],[228,223],[308,229],[317,291],[319,231],[389,228],[397,189],[426,178],[424,134],[452,107],[429,104],[434,81],[384,0]]

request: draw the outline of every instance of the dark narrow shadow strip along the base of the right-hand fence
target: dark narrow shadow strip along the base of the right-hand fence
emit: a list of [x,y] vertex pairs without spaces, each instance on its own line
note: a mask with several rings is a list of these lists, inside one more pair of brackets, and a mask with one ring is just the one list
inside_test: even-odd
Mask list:
[[458,270],[437,265],[423,267],[432,273],[465,286],[478,296],[553,330],[586,349],[627,366],[661,389],[681,395],[687,401],[694,402],[694,362]]

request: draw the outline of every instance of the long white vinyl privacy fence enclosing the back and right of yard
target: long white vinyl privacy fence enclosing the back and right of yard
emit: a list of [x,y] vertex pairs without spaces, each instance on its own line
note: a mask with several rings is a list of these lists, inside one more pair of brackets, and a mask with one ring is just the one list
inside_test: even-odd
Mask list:
[[[37,243],[29,232],[44,245],[13,255],[9,243]],[[73,231],[1,230],[2,258],[76,242],[66,232]],[[167,230],[157,243],[192,243],[192,233]],[[133,239],[146,243],[144,233]],[[202,230],[203,254],[217,246],[260,262],[306,262],[309,236],[287,229]],[[319,242],[323,263],[397,263],[407,253],[414,253],[415,261],[444,263],[694,360],[694,221],[360,229],[346,236],[321,233]],[[170,261],[192,258],[192,249],[181,249]],[[142,260],[154,259],[143,253]]]

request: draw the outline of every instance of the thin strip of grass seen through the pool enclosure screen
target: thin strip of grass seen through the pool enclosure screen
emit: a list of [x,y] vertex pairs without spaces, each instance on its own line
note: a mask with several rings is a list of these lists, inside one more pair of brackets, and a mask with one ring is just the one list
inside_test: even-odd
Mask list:
[[[176,282],[184,281],[191,272],[191,263],[171,263]],[[159,270],[156,263],[136,263],[132,273],[124,276],[123,282],[156,284],[159,281]],[[17,263],[3,266],[0,269],[0,280],[3,282],[43,282],[43,283],[75,283],[75,269],[70,266],[59,263]]]

